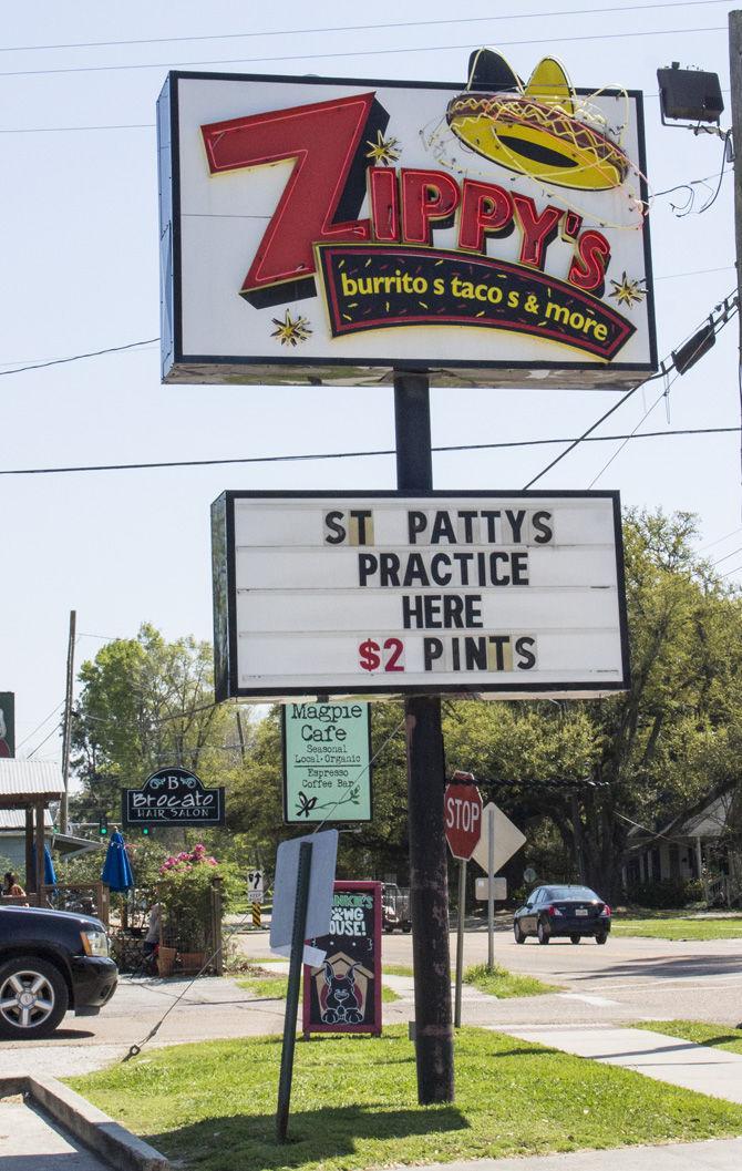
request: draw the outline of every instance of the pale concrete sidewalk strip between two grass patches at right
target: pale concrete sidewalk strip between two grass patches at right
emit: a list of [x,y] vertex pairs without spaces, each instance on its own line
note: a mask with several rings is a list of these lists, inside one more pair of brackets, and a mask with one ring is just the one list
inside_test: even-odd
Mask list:
[[692,1041],[641,1028],[487,1027],[523,1041],[537,1041],[552,1049],[573,1053],[579,1057],[634,1069],[647,1077],[698,1090],[699,1094],[742,1103],[742,1055],[728,1049],[694,1045]]

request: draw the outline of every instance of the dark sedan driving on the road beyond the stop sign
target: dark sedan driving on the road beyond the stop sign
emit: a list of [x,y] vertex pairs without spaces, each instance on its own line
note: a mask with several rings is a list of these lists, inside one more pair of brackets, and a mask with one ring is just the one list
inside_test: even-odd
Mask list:
[[536,936],[540,944],[564,937],[578,944],[591,936],[604,944],[611,930],[611,908],[589,886],[536,886],[513,919],[516,944]]

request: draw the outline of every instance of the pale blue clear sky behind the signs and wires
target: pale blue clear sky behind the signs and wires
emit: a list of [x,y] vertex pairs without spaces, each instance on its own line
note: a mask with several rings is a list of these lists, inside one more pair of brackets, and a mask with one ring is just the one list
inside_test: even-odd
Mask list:
[[[644,90],[652,190],[699,180],[692,203],[687,190],[676,191],[659,196],[651,213],[658,344],[666,356],[735,288],[733,179],[728,167],[719,198],[702,211],[716,190],[722,143],[660,124],[655,70],[679,61],[715,71],[728,105],[727,14],[735,7],[706,0],[6,5],[0,375],[157,337],[154,103],[170,68],[455,82],[482,44],[500,48],[522,76],[549,53],[578,87]],[[722,128],[729,125],[727,109]],[[599,433],[632,431],[662,391],[660,381],[638,391]],[[576,436],[617,398],[614,391],[435,390],[433,443]],[[393,446],[391,389],[163,386],[154,343],[1,376],[0,403],[0,470]],[[738,423],[735,320],[639,430]],[[585,444],[538,487],[584,489],[599,475],[595,486],[619,488],[625,505],[696,513],[699,546],[724,559],[719,569],[731,571],[729,581],[741,581],[740,436],[634,440],[599,474],[618,447]],[[521,488],[558,450],[441,453],[435,486]],[[145,619],[167,637],[211,638],[208,506],[222,489],[393,485],[389,457],[0,477],[0,691],[16,693],[19,755],[59,759],[70,609],[78,664],[102,638],[132,636]]]

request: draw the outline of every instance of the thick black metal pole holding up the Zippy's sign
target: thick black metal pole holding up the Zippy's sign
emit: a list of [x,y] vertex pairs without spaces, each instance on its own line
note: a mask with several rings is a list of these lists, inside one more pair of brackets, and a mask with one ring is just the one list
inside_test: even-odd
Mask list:
[[[394,375],[394,430],[397,487],[432,488],[430,382],[424,375]],[[405,701],[405,717],[418,1101],[427,1105],[454,1097],[440,699],[413,696]]]

